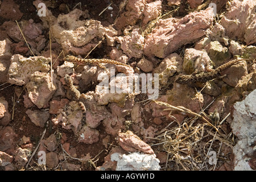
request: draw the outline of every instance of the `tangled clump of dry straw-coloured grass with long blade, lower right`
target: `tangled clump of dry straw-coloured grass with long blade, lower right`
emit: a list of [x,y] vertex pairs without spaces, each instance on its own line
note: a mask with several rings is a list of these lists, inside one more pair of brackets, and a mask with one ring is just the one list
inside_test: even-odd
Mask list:
[[[179,123],[172,121],[154,138],[154,143],[150,144],[154,151],[164,151],[167,153],[167,163],[164,164],[165,170],[214,170],[217,163],[212,166],[209,162],[209,151],[214,150],[221,154],[221,147],[232,147],[233,143],[228,140],[228,135],[220,133],[221,126],[213,126],[208,122],[200,122],[203,116],[197,114],[183,106],[172,106],[166,102],[155,101],[156,104],[166,106],[165,110],[175,110],[181,113],[192,115]],[[201,113],[201,112],[200,112]],[[171,112],[170,112],[171,114]],[[171,115],[169,115],[171,116]],[[224,119],[226,119],[227,115]],[[203,121],[205,121],[203,119]],[[223,121],[222,121],[223,122]],[[220,144],[218,144],[220,143]],[[207,152],[208,151],[208,152]],[[218,159],[218,166],[225,162]]]

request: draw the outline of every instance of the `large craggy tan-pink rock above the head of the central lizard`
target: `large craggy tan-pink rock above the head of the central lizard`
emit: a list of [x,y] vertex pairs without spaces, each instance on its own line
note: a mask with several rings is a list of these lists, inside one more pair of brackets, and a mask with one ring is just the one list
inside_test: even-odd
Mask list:
[[49,22],[47,16],[48,20],[46,20],[51,24],[52,38],[61,44],[64,52],[86,55],[89,50],[97,46],[98,39],[104,37],[105,30],[101,22],[93,19],[79,20],[82,14],[83,11],[75,9],[68,14],[60,14],[55,22]]

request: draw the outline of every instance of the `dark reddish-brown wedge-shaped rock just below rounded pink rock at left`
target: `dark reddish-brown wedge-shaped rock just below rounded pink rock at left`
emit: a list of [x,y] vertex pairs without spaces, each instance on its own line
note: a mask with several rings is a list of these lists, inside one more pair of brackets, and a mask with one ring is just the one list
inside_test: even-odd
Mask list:
[[30,118],[31,122],[33,122],[36,126],[44,127],[44,123],[46,123],[49,118],[48,111],[40,111],[40,110],[30,110],[26,111],[26,114]]

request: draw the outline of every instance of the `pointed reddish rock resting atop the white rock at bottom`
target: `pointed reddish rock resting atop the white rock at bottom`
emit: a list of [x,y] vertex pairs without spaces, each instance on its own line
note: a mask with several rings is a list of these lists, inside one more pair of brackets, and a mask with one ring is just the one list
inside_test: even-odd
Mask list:
[[126,131],[126,133],[118,133],[118,142],[125,151],[141,151],[145,154],[154,154],[154,151],[147,143],[143,142],[137,135],[129,130]]

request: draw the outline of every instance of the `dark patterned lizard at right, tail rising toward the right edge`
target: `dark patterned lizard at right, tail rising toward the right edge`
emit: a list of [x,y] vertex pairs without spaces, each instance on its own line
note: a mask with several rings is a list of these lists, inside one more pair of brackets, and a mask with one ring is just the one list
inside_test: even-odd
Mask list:
[[224,71],[226,68],[229,68],[240,61],[251,61],[251,59],[232,60],[232,61],[229,61],[228,63],[220,65],[220,67],[214,69],[211,72],[192,73],[191,75],[181,75],[176,79],[176,82],[178,83],[206,82],[214,78],[222,78],[226,76],[226,75],[221,76],[222,71]]

